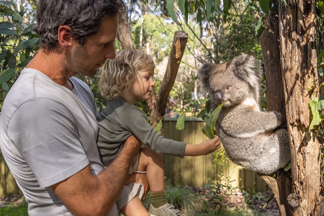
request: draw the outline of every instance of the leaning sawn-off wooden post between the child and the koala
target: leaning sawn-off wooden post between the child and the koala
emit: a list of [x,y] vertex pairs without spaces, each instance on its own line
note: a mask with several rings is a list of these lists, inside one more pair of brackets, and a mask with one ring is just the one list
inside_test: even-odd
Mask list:
[[[148,99],[148,105],[150,107],[150,119],[153,120],[153,127],[156,128],[157,123],[161,120],[160,117],[164,116],[167,107],[169,93],[174,85],[174,81],[177,77],[179,70],[179,61],[181,61],[186,43],[188,41],[188,34],[184,31],[176,31],[174,33],[173,43],[169,55],[167,69],[164,74],[161,86],[155,98],[155,92],[151,92],[151,96]],[[156,103],[151,101],[156,99]],[[151,111],[152,110],[152,111]],[[162,120],[163,121],[163,120]],[[161,133],[163,131],[161,130]]]

